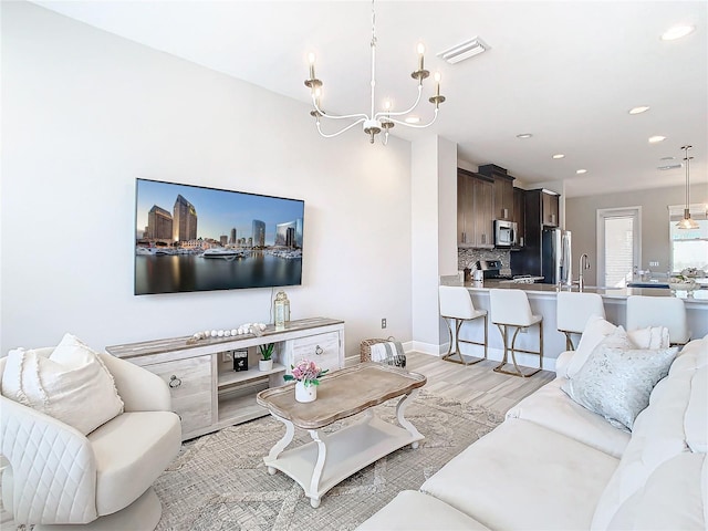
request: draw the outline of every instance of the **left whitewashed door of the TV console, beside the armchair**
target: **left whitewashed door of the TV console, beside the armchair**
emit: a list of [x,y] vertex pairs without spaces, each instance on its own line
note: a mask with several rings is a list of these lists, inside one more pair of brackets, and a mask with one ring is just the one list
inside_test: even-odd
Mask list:
[[183,438],[212,423],[211,355],[143,367],[169,385],[173,412],[181,418]]

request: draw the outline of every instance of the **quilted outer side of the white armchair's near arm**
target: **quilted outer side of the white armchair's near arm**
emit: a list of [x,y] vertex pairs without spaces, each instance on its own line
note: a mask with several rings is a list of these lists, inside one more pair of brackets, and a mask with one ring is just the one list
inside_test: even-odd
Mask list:
[[96,464],[88,439],[71,426],[1,395],[0,405],[0,451],[10,462],[3,482],[11,480],[13,485],[11,499],[3,499],[3,503],[14,521],[95,520]]

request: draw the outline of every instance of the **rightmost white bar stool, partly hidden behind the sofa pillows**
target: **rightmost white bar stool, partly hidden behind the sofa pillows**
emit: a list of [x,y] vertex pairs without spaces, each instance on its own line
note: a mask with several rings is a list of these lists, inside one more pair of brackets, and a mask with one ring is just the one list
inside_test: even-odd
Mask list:
[[666,326],[671,345],[690,341],[686,306],[675,296],[627,296],[627,330]]

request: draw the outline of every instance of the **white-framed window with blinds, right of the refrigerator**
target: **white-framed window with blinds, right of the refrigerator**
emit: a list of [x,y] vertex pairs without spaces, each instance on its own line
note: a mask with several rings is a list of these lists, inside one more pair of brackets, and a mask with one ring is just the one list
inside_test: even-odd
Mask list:
[[597,210],[597,285],[624,288],[642,263],[642,207]]

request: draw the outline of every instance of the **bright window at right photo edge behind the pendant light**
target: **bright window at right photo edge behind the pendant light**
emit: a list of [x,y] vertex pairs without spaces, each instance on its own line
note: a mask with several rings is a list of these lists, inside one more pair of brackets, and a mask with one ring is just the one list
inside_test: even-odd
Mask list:
[[691,205],[690,217],[698,222],[697,229],[679,229],[676,223],[684,217],[684,206],[668,207],[670,267],[678,273],[684,269],[708,270],[708,219],[705,205]]

